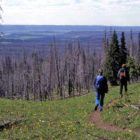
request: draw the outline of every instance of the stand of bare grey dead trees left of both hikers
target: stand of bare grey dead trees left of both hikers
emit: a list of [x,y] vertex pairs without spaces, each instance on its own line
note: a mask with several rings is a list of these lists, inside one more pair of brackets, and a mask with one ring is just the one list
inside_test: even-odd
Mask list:
[[96,53],[69,43],[60,51],[55,43],[50,52],[20,58],[0,57],[0,96],[26,100],[51,100],[88,93],[98,67]]

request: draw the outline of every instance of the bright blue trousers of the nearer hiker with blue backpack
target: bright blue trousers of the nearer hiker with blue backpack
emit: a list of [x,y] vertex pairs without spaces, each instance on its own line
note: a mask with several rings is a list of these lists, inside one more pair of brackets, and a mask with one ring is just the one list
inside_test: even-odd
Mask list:
[[103,109],[104,97],[105,97],[105,93],[96,91],[96,103],[95,104],[98,105],[100,107],[100,109]]

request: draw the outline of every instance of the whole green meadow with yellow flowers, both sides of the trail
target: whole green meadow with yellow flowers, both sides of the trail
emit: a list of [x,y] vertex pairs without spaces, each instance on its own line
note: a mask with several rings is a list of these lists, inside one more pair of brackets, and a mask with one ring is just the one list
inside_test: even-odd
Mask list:
[[[140,84],[129,87],[131,89],[129,93],[132,94],[129,94],[128,98],[131,103],[139,102],[139,87]],[[106,95],[105,104],[118,97],[118,91],[118,87],[111,88]],[[140,139],[133,132],[108,132],[91,124],[89,118],[94,108],[95,96],[93,94],[47,102],[0,99],[0,124],[15,118],[23,119],[22,123],[1,131],[0,140]],[[128,104],[127,99],[121,99],[117,104],[121,104],[121,102]],[[115,105],[110,109],[105,108],[102,112],[103,119],[120,127],[138,129],[140,126],[139,112],[129,107],[118,109]],[[133,113],[135,113],[135,116],[132,115]],[[130,120],[127,121],[128,116]]]

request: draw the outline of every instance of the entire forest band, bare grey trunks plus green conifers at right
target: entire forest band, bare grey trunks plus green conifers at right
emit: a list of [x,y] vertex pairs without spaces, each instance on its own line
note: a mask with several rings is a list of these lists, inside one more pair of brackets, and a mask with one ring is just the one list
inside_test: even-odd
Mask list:
[[[104,32],[102,47],[82,47],[71,41],[63,49],[54,38],[46,55],[33,51],[30,55],[0,56],[0,96],[25,100],[64,99],[89,93],[98,68],[103,68],[111,85],[117,85],[117,72],[123,63],[130,72],[130,82],[140,76],[140,33],[137,41],[130,31],[118,39],[116,31]],[[94,46],[94,44],[93,44]]]

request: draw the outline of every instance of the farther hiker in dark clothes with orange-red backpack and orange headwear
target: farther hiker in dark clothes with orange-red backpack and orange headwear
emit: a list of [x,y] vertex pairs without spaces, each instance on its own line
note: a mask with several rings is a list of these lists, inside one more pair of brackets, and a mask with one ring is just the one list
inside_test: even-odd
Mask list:
[[126,64],[122,64],[122,67],[120,68],[118,72],[118,78],[120,81],[120,95],[123,97],[123,88],[125,90],[125,93],[127,93],[127,81],[129,81],[129,71],[126,67]]

